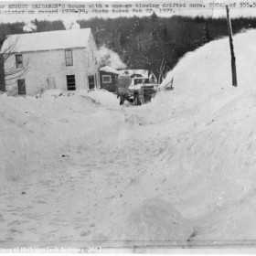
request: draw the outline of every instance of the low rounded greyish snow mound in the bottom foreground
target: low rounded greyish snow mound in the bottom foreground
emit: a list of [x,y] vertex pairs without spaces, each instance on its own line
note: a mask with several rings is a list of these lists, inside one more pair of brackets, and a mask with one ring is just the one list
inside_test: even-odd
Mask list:
[[120,226],[116,234],[110,234],[110,240],[189,240],[194,232],[170,203],[157,197],[134,200],[117,219]]

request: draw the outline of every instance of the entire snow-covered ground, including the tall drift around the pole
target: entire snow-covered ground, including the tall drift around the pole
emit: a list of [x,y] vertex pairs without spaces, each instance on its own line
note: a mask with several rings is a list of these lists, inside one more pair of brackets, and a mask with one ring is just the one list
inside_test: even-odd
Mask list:
[[234,37],[237,88],[223,38],[143,106],[106,91],[0,95],[3,244],[255,240],[255,40]]

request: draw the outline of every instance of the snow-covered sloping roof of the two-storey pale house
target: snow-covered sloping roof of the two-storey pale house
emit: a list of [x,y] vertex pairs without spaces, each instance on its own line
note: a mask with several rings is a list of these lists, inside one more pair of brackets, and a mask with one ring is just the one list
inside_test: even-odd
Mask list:
[[85,48],[90,35],[91,28],[12,35],[5,39],[1,52],[14,45],[16,45],[14,52]]

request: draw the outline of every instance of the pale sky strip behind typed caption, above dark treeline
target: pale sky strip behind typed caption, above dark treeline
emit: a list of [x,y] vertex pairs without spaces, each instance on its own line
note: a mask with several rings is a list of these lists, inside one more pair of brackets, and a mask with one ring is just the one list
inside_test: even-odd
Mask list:
[[[253,2],[251,1],[251,7],[240,7],[240,3],[244,3],[246,1],[240,0],[165,0],[165,1],[52,1],[51,4],[71,4],[71,5],[91,5],[91,4],[101,4],[112,6],[113,4],[122,4],[122,5],[135,5],[135,4],[141,4],[141,5],[159,5],[159,8],[154,7],[144,7],[143,13],[131,13],[129,16],[133,16],[135,14],[136,16],[149,16],[149,13],[145,13],[145,9],[152,9],[155,11],[157,16],[172,16],[172,15],[182,15],[182,16],[213,16],[213,17],[219,17],[219,16],[226,16],[226,9],[225,5],[230,6],[230,16],[231,17],[237,17],[237,16],[256,16],[256,4],[253,5]],[[256,1],[255,1],[256,2]],[[26,1],[26,0],[20,0],[19,2],[16,1],[1,1],[2,5],[15,5],[15,4],[48,4],[49,1]],[[219,3],[224,3],[222,6],[218,6]],[[234,4],[236,3],[236,4]],[[250,3],[250,2],[249,2]],[[1,5],[0,4],[0,5]],[[163,4],[167,4],[167,6],[163,7]],[[182,7],[174,7],[174,6],[168,6],[168,5],[174,5],[174,4],[180,4],[183,5]],[[204,5],[204,7],[191,7],[190,4],[198,4],[198,5]],[[184,7],[186,5],[186,7]],[[3,7],[3,6],[2,6]],[[170,13],[170,9],[168,8],[172,7],[173,13]],[[167,9],[166,9],[167,8]],[[97,8],[96,8],[97,9]],[[130,8],[130,10],[132,10]],[[141,8],[137,8],[141,9]],[[164,12],[167,12],[165,14],[160,13],[160,9]],[[13,9],[14,11],[16,9]],[[22,9],[20,9],[22,10]],[[60,9],[59,9],[60,10]],[[100,10],[98,8],[98,10]],[[109,7],[109,10],[111,13],[109,14],[92,14],[91,12],[88,12],[87,14],[43,14],[43,15],[20,15],[20,14],[5,14],[5,11],[8,11],[6,8],[0,8],[1,15],[0,15],[0,22],[16,22],[16,21],[29,21],[34,20],[37,18],[37,20],[40,19],[47,19],[47,20],[78,20],[78,19],[89,19],[91,17],[95,16],[102,16],[102,17],[116,17],[121,16],[120,14],[113,14],[112,13],[112,7]],[[122,15],[127,16],[127,15]]]

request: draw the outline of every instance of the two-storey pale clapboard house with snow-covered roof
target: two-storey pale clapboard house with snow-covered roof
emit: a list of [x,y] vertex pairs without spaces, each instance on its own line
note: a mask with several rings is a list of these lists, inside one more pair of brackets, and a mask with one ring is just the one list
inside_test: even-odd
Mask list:
[[[100,87],[97,47],[90,28],[13,35],[5,40],[2,52],[14,41],[16,48],[5,62],[5,73],[15,67],[20,74],[8,76],[8,94]],[[17,62],[22,62],[22,68]]]

